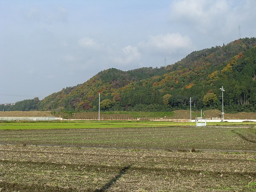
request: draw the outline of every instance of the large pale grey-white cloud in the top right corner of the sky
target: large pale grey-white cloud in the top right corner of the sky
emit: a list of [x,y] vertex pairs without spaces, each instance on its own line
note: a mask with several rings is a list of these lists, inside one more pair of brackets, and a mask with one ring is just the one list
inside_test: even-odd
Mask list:
[[[239,2],[239,1],[238,1]],[[255,0],[175,0],[170,21],[196,29],[201,34],[218,36],[237,32],[238,25],[255,18]]]

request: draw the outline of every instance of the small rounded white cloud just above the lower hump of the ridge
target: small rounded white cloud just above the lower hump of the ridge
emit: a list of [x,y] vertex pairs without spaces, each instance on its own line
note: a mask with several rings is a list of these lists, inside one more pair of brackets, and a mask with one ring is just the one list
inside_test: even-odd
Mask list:
[[117,64],[129,64],[131,62],[139,61],[141,54],[137,47],[128,45],[122,48],[121,56],[113,58],[113,61]]

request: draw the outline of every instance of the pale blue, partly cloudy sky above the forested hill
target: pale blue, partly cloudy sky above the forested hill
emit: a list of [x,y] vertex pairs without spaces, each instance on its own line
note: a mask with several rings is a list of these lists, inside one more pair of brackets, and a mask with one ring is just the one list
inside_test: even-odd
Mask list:
[[256,0],[0,0],[0,104],[256,37],[255,8]]

